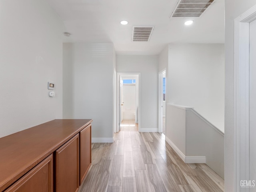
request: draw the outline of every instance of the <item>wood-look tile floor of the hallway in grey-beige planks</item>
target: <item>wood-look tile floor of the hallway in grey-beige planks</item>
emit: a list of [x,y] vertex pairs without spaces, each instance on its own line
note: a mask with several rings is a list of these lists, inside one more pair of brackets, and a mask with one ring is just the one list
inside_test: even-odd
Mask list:
[[185,164],[164,134],[120,131],[92,144],[92,166],[79,192],[223,192],[206,164]]

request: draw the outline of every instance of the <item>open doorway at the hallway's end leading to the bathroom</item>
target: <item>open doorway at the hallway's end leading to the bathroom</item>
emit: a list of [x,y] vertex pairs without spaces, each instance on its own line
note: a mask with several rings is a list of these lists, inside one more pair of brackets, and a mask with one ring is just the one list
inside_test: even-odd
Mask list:
[[140,131],[140,73],[117,73],[116,130]]

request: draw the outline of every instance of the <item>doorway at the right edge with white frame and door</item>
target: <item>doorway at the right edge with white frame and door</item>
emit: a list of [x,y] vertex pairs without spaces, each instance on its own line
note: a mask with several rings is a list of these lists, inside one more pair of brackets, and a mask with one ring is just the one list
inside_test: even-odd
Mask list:
[[234,185],[256,191],[256,6],[234,20]]

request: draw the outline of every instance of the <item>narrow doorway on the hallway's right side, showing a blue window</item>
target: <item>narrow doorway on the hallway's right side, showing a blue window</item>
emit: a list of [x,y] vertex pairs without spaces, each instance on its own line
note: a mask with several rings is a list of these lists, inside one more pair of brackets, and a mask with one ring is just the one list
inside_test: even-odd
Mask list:
[[158,73],[158,132],[166,134],[166,69]]

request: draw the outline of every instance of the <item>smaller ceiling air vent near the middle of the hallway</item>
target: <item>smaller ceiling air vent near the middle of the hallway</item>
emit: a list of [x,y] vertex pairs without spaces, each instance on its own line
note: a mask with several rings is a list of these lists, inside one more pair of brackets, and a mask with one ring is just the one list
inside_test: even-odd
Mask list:
[[149,41],[154,26],[132,26],[132,41]]

